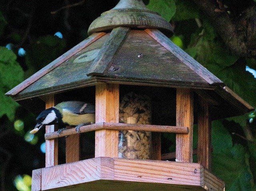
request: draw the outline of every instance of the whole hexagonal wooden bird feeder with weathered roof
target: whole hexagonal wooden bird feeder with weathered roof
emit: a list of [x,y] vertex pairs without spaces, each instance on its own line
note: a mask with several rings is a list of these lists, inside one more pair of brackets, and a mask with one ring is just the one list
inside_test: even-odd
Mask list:
[[[167,36],[172,26],[142,0],[120,0],[92,22],[87,39],[10,90],[38,114],[65,100],[95,103],[95,155],[80,160],[74,128],[58,135],[46,126],[46,167],[33,170],[32,191],[208,190],[223,191],[212,175],[211,120],[237,116],[252,106]],[[167,36],[166,36],[167,35]],[[152,101],[152,124],[119,123],[121,97],[133,91]],[[134,124],[135,123],[135,124]],[[198,124],[198,163],[192,162]],[[118,133],[152,132],[150,159],[118,158]],[[165,161],[161,132],[176,133],[176,161]],[[120,133],[119,133],[120,134]],[[66,163],[58,165],[58,138],[66,138]]]

